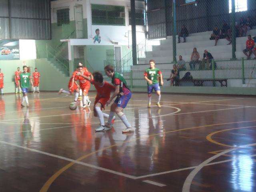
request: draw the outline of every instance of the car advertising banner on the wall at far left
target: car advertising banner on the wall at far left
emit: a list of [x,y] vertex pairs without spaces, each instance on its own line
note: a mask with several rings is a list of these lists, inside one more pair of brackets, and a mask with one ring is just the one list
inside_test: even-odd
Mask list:
[[19,60],[20,45],[16,39],[0,39],[0,60]]

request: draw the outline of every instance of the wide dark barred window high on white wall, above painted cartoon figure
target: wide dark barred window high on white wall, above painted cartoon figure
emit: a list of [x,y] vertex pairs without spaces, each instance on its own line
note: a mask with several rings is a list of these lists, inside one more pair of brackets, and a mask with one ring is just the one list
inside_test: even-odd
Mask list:
[[124,6],[92,4],[92,24],[125,26]]

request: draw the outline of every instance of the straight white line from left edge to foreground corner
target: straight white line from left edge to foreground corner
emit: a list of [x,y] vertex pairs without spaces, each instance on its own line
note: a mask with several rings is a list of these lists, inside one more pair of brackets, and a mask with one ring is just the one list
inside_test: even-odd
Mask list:
[[88,163],[76,161],[74,159],[70,159],[70,158],[54,155],[54,154],[51,154],[51,153],[47,153],[47,152],[43,152],[43,151],[40,151],[40,150],[36,150],[36,149],[32,149],[32,148],[16,145],[16,144],[5,142],[5,141],[0,141],[0,143],[7,144],[7,145],[10,145],[10,146],[14,146],[14,147],[18,147],[18,148],[22,148],[22,149],[29,150],[29,151],[32,151],[32,152],[44,154],[44,155],[47,155],[47,156],[59,158],[59,159],[66,160],[66,161],[69,161],[69,162],[73,162],[73,163],[77,163],[77,164],[80,164],[80,165],[84,165],[84,166],[87,166],[87,167],[90,167],[90,168],[106,171],[106,172],[109,172],[109,173],[112,173],[112,174],[116,174],[116,175],[119,175],[119,176],[124,176],[124,177],[127,177],[127,178],[136,179],[136,176],[132,176],[132,175],[120,173],[120,172],[117,172],[117,171],[113,171],[113,170],[110,170],[110,169],[102,168],[102,167],[99,167],[99,166],[91,165],[91,164],[88,164]]

